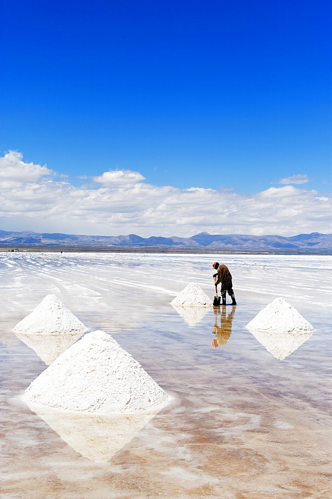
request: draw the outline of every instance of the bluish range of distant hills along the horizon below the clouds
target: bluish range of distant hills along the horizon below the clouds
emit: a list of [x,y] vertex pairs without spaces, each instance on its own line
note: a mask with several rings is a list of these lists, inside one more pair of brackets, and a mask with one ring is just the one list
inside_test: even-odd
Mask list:
[[211,250],[332,250],[332,234],[299,234],[290,238],[282,236],[246,236],[241,234],[211,235],[202,232],[191,238],[141,238],[128,236],[81,236],[76,234],[48,234],[30,231],[0,231],[0,244],[17,246],[80,246],[80,247],[179,247]]

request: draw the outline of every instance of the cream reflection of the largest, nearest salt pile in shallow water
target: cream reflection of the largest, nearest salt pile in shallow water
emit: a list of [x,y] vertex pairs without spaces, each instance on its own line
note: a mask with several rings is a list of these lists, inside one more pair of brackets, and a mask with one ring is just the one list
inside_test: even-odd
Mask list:
[[97,415],[61,412],[36,404],[29,407],[75,451],[96,463],[110,461],[158,412]]

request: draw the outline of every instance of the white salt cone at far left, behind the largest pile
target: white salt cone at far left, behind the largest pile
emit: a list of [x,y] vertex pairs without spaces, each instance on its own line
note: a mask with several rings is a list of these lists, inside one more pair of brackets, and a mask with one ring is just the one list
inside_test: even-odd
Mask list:
[[55,294],[48,294],[36,308],[14,327],[15,333],[85,333],[87,328]]

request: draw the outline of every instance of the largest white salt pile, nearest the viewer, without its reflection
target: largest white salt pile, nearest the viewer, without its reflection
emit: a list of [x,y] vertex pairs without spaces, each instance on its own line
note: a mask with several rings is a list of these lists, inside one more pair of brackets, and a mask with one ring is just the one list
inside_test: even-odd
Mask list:
[[43,371],[23,400],[60,411],[104,414],[154,412],[169,397],[110,335],[94,331]]

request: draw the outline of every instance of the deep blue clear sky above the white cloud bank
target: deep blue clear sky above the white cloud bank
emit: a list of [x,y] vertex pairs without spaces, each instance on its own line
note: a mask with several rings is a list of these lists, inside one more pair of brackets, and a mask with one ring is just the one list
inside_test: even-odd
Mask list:
[[[327,0],[2,0],[1,155],[47,164],[73,188],[123,169],[156,187],[330,198],[331,13]],[[13,229],[38,229],[17,217]]]

